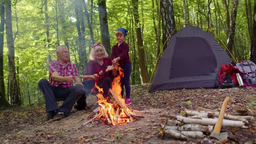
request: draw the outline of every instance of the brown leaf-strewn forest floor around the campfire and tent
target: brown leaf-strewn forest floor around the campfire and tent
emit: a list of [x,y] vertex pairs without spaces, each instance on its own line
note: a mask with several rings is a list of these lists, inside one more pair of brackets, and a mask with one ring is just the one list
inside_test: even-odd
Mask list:
[[[231,98],[226,113],[238,115],[236,108],[248,107],[256,97],[256,88],[228,89],[189,89],[175,91],[157,91],[146,93],[142,86],[131,88],[131,108],[149,113],[141,113],[144,118],[125,125],[108,126],[95,121],[93,124],[81,124],[92,114],[95,96],[87,101],[88,108],[77,111],[60,121],[47,121],[45,105],[29,107],[11,107],[0,110],[0,143],[3,144],[84,144],[84,143],[144,143],[144,144],[211,144],[220,143],[209,134],[202,139],[187,141],[163,138],[159,136],[159,128],[166,118],[162,113],[181,115],[185,109],[197,110],[198,107],[221,108],[226,96]],[[188,102],[189,101],[189,102]],[[253,105],[252,110],[256,109]],[[254,117],[256,118],[256,116]],[[250,121],[256,124],[256,121]],[[256,127],[226,128],[233,134],[230,144],[256,143]]]

